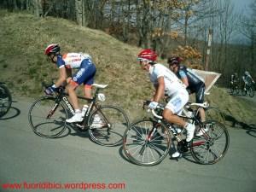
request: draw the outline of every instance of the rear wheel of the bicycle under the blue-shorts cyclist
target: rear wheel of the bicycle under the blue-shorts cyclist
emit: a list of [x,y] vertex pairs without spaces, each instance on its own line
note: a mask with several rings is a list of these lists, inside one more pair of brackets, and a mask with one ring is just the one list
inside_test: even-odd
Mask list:
[[[94,116],[99,114],[101,124],[99,127],[94,127]],[[126,128],[129,126],[129,119],[126,113],[114,106],[100,106],[96,108],[88,120],[89,134],[91,139],[103,146],[116,146],[122,143]]]

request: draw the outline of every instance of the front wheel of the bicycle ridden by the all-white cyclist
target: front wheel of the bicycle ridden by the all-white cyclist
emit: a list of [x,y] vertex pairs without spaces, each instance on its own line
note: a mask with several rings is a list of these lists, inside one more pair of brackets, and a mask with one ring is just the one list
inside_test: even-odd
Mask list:
[[[157,124],[150,141],[148,133]],[[131,124],[124,134],[124,151],[132,163],[139,166],[154,166],[166,158],[171,148],[171,135],[166,125],[153,119],[141,119]]]

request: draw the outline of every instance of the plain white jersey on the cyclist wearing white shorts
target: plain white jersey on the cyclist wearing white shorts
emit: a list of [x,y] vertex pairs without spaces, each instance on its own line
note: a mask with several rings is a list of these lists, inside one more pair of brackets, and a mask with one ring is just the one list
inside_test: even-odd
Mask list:
[[180,91],[187,91],[185,84],[177,78],[175,73],[162,64],[154,64],[149,68],[149,78],[154,85],[158,85],[158,79],[164,77],[165,95],[172,96]]

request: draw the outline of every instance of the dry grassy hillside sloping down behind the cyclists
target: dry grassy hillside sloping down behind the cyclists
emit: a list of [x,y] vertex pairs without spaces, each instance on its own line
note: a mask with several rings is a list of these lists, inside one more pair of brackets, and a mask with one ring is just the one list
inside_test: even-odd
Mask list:
[[[62,52],[92,55],[97,67],[96,83],[109,84],[104,90],[107,102],[125,108],[131,119],[141,115],[142,101],[152,94],[147,74],[137,64],[141,49],[104,32],[77,26],[69,20],[38,20],[33,15],[0,10],[0,39],[0,80],[8,83],[14,95],[43,95],[41,82],[57,78],[57,68],[44,55],[45,47],[52,43],[60,44]],[[214,88],[207,99],[239,121],[255,122],[255,106],[237,101],[220,88]]]

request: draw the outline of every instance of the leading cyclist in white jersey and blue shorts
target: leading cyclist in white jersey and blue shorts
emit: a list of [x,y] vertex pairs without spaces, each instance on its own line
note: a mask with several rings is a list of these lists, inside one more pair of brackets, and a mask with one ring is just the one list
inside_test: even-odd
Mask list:
[[[83,120],[83,117],[75,90],[79,84],[84,84],[84,96],[91,98],[91,84],[94,82],[96,67],[88,54],[67,53],[61,55],[60,51],[61,47],[58,44],[49,44],[44,50],[44,54],[49,57],[49,60],[59,67],[59,79],[44,92],[51,95],[54,91],[57,91],[62,84],[67,84],[67,93],[75,110],[75,114],[72,118],[66,119],[66,121],[67,123],[80,122]],[[77,68],[78,71],[71,77],[73,68]]]

